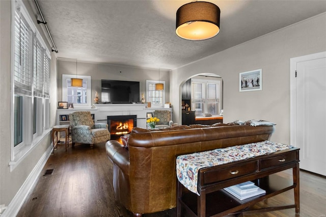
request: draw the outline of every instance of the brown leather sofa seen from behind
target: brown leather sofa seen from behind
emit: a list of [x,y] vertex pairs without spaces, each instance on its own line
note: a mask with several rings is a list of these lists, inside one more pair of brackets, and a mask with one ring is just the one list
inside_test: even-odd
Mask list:
[[176,156],[269,140],[274,126],[218,124],[147,130],[135,127],[128,147],[106,143],[118,201],[134,216],[176,207]]

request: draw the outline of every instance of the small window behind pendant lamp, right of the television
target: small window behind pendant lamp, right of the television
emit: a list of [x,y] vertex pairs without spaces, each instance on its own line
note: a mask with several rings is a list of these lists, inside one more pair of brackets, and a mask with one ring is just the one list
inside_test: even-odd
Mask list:
[[164,86],[164,90],[155,90],[157,80],[146,80],[146,101],[151,103],[152,107],[164,106],[165,104],[165,82],[160,81]]

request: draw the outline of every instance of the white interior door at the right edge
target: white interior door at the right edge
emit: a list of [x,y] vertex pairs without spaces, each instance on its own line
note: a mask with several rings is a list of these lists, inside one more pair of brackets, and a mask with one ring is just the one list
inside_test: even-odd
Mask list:
[[326,58],[297,62],[295,79],[300,168],[326,175]]

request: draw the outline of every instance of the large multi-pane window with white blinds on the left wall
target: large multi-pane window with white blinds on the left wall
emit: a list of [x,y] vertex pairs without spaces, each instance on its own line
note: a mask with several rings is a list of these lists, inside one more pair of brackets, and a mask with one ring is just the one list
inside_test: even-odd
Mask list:
[[[45,106],[49,107],[49,100],[46,104],[43,99],[45,96],[49,98],[50,52],[23,3],[17,0],[13,4],[11,160],[18,161],[40,141],[40,135],[44,131],[44,119],[50,117],[49,113],[43,115]],[[33,29],[36,32],[33,32]]]

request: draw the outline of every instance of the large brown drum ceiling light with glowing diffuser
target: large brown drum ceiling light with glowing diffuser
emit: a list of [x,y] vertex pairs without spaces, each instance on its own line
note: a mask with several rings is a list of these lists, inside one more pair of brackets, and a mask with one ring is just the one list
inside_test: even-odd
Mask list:
[[185,4],[177,10],[175,32],[186,40],[212,38],[220,32],[220,14],[220,8],[210,2]]

